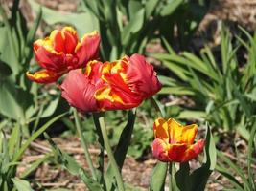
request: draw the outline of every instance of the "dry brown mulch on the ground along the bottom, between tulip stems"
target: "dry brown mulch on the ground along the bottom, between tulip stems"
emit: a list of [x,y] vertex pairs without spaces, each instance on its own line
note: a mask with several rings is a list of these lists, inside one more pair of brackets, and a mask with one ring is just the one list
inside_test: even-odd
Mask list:
[[[71,155],[78,163],[85,168],[88,172],[88,166],[84,159],[83,150],[79,138],[53,138],[58,144],[58,147]],[[68,144],[67,144],[68,142]],[[44,154],[50,152],[50,146],[45,140],[36,140],[31,148],[26,152],[22,159],[21,164],[18,166],[17,174],[20,175],[26,168],[31,166],[35,160],[44,157]],[[89,148],[92,159],[95,161],[99,154],[99,149],[91,145]],[[129,185],[139,188],[142,191],[148,190],[151,172],[156,163],[156,159],[153,159],[151,155],[148,159],[138,161],[132,157],[127,157],[122,170],[123,179]],[[96,166],[96,164],[94,164]],[[107,156],[105,155],[105,166],[107,165]],[[201,164],[198,160],[192,160],[191,168],[196,169]],[[218,191],[222,189],[222,186],[215,183],[214,180],[222,179],[218,173],[213,173],[207,184],[208,190]],[[68,188],[74,191],[87,190],[85,185],[82,183],[79,177],[73,176],[68,173],[65,169],[56,165],[54,159],[48,159],[43,162],[29,177],[32,182],[34,189],[37,191],[41,190],[38,186],[41,185],[44,188]],[[168,180],[168,179],[167,179]],[[166,184],[168,185],[168,183]]]

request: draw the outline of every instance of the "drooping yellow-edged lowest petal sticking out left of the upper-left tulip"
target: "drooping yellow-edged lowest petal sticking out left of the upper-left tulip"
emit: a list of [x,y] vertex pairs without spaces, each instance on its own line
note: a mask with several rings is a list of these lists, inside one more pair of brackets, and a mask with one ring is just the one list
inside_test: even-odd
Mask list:
[[36,72],[35,74],[31,74],[27,72],[26,75],[30,80],[35,81],[37,83],[56,82],[58,80],[58,77],[61,76],[61,74],[57,74],[55,72],[47,71],[47,70],[41,70]]

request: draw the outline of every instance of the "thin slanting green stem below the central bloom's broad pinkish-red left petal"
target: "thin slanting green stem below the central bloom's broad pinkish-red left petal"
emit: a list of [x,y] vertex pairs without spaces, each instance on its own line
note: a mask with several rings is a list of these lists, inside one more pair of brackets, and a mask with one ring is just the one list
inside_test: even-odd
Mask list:
[[85,159],[88,162],[88,166],[89,166],[89,168],[91,170],[93,179],[97,180],[97,175],[96,175],[93,163],[92,163],[92,159],[90,158],[90,153],[89,153],[89,150],[88,150],[88,146],[87,146],[85,138],[84,138],[84,136],[83,136],[83,134],[81,132],[81,121],[79,119],[78,112],[77,112],[76,109],[74,109],[73,112],[74,112],[74,117],[75,117],[76,128],[77,128],[77,131],[78,131],[79,136],[81,138],[81,146],[82,146],[82,148],[84,150]]

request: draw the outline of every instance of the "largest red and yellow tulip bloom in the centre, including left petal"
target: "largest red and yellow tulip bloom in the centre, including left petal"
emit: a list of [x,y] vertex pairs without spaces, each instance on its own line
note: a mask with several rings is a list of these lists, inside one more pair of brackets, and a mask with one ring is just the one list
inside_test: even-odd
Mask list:
[[91,61],[84,74],[72,71],[61,85],[62,96],[82,112],[134,108],[160,88],[153,67],[139,54],[113,62]]

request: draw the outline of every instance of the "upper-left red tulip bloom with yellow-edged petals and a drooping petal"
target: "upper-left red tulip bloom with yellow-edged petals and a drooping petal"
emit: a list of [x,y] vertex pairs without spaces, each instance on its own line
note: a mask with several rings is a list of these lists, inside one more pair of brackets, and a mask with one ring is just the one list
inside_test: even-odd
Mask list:
[[27,76],[37,83],[55,82],[62,74],[97,59],[100,41],[98,32],[84,34],[79,40],[72,27],[54,30],[50,36],[35,41],[35,58],[43,69],[35,74],[27,72]]

